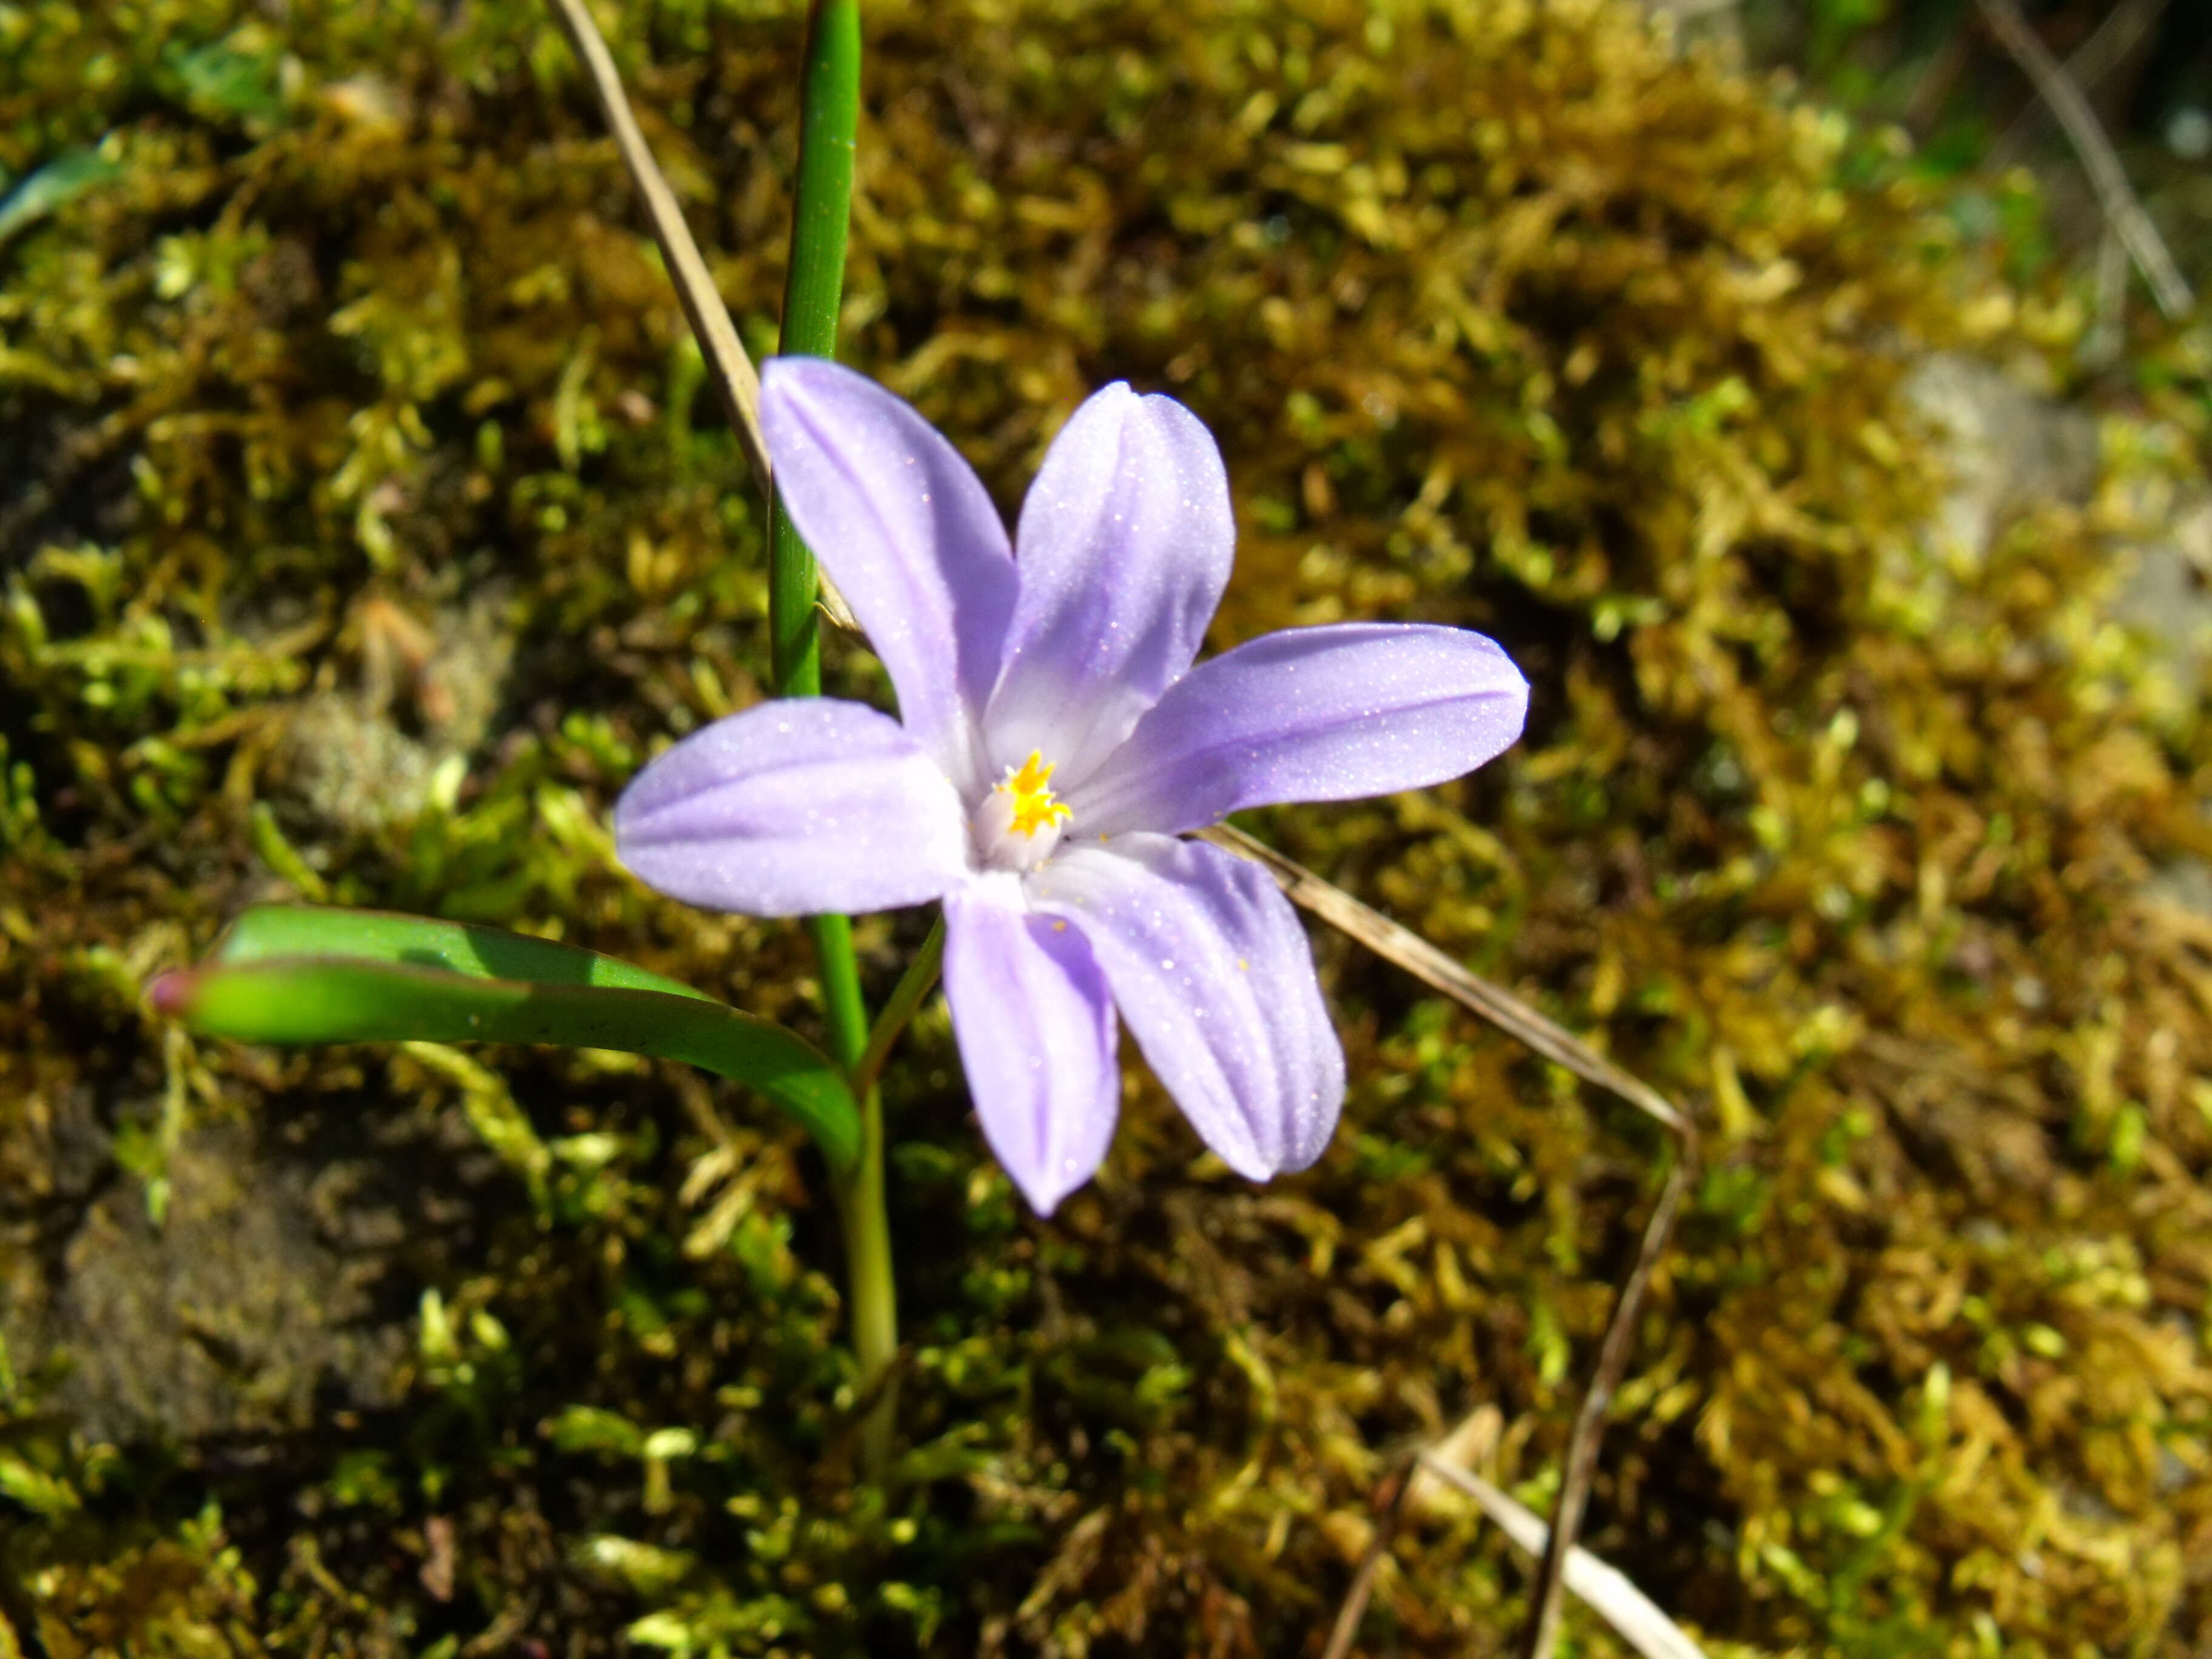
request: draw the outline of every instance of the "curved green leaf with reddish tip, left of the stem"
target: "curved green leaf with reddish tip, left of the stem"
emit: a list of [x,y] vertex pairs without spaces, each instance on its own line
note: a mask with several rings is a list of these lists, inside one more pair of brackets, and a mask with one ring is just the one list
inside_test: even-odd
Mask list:
[[495,927],[270,905],[150,995],[239,1042],[544,1042],[684,1060],[799,1119],[838,1179],[860,1152],[845,1077],[796,1033],[630,962]]

